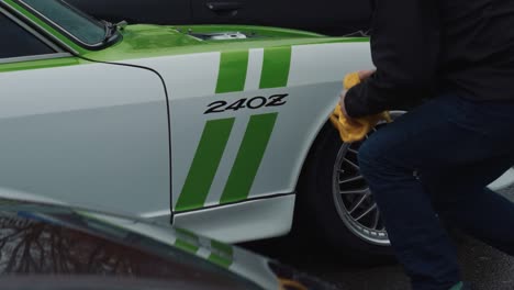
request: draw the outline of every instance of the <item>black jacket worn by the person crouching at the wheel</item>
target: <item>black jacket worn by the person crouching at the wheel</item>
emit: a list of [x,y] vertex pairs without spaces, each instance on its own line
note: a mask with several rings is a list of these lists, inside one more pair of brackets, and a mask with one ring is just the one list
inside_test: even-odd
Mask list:
[[376,0],[371,29],[377,72],[348,91],[350,116],[447,91],[514,101],[514,0]]

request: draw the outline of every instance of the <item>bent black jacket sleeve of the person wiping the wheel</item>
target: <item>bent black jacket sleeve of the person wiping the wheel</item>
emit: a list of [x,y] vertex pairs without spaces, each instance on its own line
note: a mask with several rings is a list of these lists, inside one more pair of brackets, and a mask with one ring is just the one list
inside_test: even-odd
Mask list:
[[433,94],[440,47],[436,0],[376,0],[371,57],[377,71],[348,90],[348,114],[399,109]]

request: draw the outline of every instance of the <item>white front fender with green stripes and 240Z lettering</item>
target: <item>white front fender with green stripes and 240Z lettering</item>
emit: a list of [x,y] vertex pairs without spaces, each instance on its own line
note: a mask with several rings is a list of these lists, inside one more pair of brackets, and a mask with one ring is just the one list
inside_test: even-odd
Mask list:
[[[168,88],[176,212],[294,192],[345,74],[372,68],[367,41],[281,44],[127,64],[158,71]],[[284,94],[283,105],[259,105]],[[241,100],[245,108],[226,109]],[[265,144],[255,144],[262,138]]]

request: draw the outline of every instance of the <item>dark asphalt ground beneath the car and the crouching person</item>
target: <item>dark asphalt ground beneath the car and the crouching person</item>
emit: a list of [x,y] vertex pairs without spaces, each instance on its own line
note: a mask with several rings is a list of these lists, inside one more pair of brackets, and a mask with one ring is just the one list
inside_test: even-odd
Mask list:
[[[514,201],[514,187],[501,192]],[[288,247],[288,243],[290,242],[273,239],[249,244],[248,247],[331,281],[343,290],[411,289],[409,279],[399,265],[348,265],[334,257],[319,255],[315,249],[299,254],[294,247]],[[463,237],[459,246],[459,259],[465,279],[471,282],[473,290],[514,290],[514,257],[470,237]]]

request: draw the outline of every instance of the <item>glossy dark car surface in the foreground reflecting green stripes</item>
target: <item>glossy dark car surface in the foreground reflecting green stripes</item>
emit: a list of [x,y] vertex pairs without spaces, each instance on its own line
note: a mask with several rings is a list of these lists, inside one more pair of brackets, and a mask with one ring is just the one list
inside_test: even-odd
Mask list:
[[335,289],[183,230],[0,199],[1,289]]

